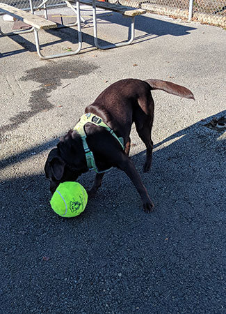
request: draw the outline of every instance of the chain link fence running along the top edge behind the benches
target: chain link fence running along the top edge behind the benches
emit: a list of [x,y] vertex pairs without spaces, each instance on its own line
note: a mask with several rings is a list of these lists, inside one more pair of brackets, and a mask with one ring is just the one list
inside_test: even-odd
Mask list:
[[[193,20],[220,27],[226,27],[226,0],[106,0],[124,6],[143,8],[147,12],[170,17]],[[1,0],[22,10],[29,9],[29,0]],[[33,0],[38,7],[41,0]],[[60,0],[49,0],[48,6],[65,5]]]

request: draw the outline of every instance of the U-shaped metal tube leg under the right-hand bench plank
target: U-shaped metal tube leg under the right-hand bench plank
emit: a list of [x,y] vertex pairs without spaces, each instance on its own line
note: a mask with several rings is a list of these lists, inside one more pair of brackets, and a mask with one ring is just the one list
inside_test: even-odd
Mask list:
[[[94,43],[95,46],[99,49],[105,50],[105,49],[110,49],[110,48],[115,48],[115,47],[121,47],[125,45],[129,45],[132,43],[134,40],[134,24],[135,24],[135,17],[131,17],[131,30],[129,28],[128,31],[128,40],[124,41],[123,43],[116,43],[116,44],[110,44],[110,45],[103,45],[100,46],[98,43],[98,38],[97,38],[97,14],[96,14],[96,3],[94,0],[92,0],[92,16],[93,16],[93,36],[94,36]],[[130,33],[130,34],[129,34]]]

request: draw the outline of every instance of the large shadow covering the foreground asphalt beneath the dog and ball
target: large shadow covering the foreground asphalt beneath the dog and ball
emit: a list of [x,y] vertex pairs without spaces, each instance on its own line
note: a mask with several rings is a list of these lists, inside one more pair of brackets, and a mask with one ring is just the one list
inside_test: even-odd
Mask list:
[[[1,182],[2,311],[13,302],[17,313],[107,313],[106,304],[114,313],[223,313],[221,135],[198,122],[155,145],[152,170],[141,174],[152,214],[118,170],[71,219],[49,207],[44,174]],[[140,173],[144,155],[131,157]],[[88,188],[92,180],[84,174],[79,181]]]

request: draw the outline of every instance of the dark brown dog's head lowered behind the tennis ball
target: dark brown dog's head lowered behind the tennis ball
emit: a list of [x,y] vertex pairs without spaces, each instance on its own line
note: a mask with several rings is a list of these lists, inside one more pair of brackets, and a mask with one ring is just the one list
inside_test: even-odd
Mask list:
[[45,176],[50,181],[51,193],[55,192],[60,182],[76,181],[86,171],[88,167],[81,137],[70,130],[49,152],[45,163]]

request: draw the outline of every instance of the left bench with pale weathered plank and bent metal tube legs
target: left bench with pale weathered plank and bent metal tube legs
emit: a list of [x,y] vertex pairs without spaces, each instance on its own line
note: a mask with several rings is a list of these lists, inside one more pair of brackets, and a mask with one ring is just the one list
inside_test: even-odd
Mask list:
[[67,6],[72,8],[72,10],[74,10],[74,12],[77,15],[76,24],[78,26],[79,47],[76,51],[64,52],[61,54],[51,54],[48,56],[44,56],[40,52],[40,43],[39,43],[38,31],[40,31],[40,29],[47,30],[47,29],[56,28],[57,24],[55,22],[51,22],[51,21],[49,21],[43,17],[34,15],[33,14],[32,1],[30,1],[31,13],[25,12],[24,10],[19,10],[18,8],[15,8],[14,6],[8,6],[8,4],[6,4],[6,3],[0,3],[0,11],[1,12],[6,13],[10,16],[13,16],[13,17],[15,17],[15,19],[21,20],[22,22],[29,24],[32,27],[32,29],[29,29],[29,30],[12,31],[9,33],[4,33],[3,31],[1,31],[1,27],[0,27],[1,35],[2,36],[12,36],[15,34],[27,33],[29,31],[34,31],[36,50],[37,50],[38,55],[41,59],[53,59],[53,58],[57,58],[57,57],[65,57],[65,56],[70,56],[72,54],[77,54],[81,50],[81,45],[82,45],[80,3],[79,3],[79,1],[76,3],[76,10],[75,10],[69,1],[67,1],[67,0],[64,0],[64,1],[65,1],[65,3],[67,3]]

